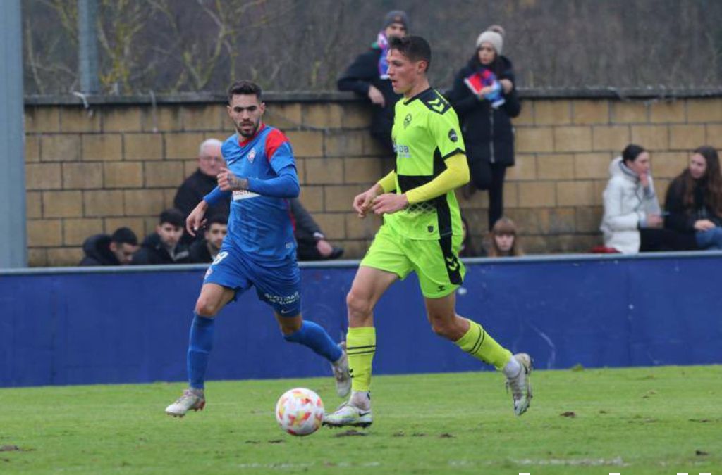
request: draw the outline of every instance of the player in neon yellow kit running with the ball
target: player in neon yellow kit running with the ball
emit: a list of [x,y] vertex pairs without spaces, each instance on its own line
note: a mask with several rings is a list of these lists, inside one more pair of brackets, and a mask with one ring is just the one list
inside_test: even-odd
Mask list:
[[391,40],[388,76],[394,92],[404,94],[396,103],[391,132],[396,169],[354,198],[360,218],[373,211],[383,215],[384,223],[346,299],[352,394],[326,415],[324,425],[367,427],[373,422],[373,308],[392,283],[412,271],[419,277],[433,331],[503,371],[515,414],[526,412],[531,401],[529,355],[512,355],[477,322],[456,314],[455,291],[465,268],[458,260],[461,214],[453,190],[469,182],[469,166],[456,112],[429,86],[430,60],[431,48],[422,37]]

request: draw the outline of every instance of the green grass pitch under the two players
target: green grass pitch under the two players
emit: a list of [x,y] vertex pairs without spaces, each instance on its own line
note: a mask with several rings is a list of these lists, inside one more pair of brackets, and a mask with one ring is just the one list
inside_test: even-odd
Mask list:
[[331,378],[0,389],[0,474],[722,475],[722,366],[536,371],[515,417],[491,372],[376,376],[374,424],[294,438],[274,405]]

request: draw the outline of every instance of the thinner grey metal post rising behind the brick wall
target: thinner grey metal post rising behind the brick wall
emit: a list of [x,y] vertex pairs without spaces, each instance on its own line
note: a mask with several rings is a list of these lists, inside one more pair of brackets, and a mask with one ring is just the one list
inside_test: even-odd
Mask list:
[[97,79],[97,0],[78,0],[78,68],[80,89],[95,94]]

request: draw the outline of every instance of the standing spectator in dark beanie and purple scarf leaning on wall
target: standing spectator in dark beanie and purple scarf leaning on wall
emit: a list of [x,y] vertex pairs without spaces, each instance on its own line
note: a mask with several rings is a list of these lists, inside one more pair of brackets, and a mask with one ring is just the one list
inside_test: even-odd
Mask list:
[[362,53],[339,78],[339,91],[352,91],[361,97],[368,97],[372,103],[371,136],[391,155],[393,142],[393,106],[401,98],[401,94],[393,92],[391,80],[388,79],[388,38],[404,37],[409,32],[409,17],[400,10],[388,12],[383,19],[383,28],[370,50]]

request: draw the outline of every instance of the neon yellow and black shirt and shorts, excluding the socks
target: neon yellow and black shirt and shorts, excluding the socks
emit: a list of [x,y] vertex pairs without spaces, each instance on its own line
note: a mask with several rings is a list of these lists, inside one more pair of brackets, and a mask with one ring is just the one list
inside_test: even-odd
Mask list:
[[443,297],[461,285],[465,272],[458,259],[462,231],[456,195],[451,188],[442,195],[431,193],[438,195],[431,199],[414,200],[414,193],[424,195],[424,187],[434,187],[432,180],[443,180],[441,175],[449,172],[447,161],[463,161],[466,167],[464,138],[456,112],[435,89],[396,102],[395,117],[395,179],[390,189],[388,179],[382,186],[384,191],[406,193],[409,206],[383,216],[383,226],[361,265],[401,279],[415,271],[425,297]]

